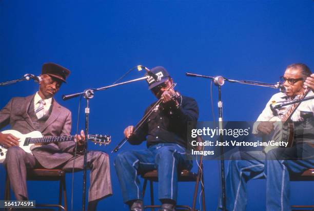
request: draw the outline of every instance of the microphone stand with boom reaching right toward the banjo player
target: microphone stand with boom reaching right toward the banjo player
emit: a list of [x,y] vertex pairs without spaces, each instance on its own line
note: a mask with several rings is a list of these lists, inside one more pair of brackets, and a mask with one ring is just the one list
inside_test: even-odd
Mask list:
[[[221,99],[221,87],[224,85],[225,81],[231,82],[231,83],[240,83],[240,84],[249,84],[249,85],[256,85],[256,86],[264,86],[264,87],[271,87],[271,88],[280,88],[280,83],[277,84],[268,84],[263,82],[257,82],[257,81],[238,81],[238,80],[231,80],[226,79],[223,76],[208,76],[208,75],[200,75],[195,73],[186,72],[187,76],[192,77],[200,77],[205,79],[211,79],[213,83],[218,86],[218,113],[219,113],[219,129],[223,129],[223,102]],[[223,134],[220,132],[219,134],[220,142],[223,143]],[[222,189],[222,210],[226,210],[226,183],[225,183],[225,163],[224,163],[224,147],[223,145],[220,147],[220,153],[221,153],[221,162],[220,162],[220,170],[221,170],[221,189]]]

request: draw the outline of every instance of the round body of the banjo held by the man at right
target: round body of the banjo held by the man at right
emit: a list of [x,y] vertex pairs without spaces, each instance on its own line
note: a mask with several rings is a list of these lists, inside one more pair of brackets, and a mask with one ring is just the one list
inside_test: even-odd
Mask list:
[[[286,142],[288,143],[287,147],[293,145],[293,136],[294,136],[294,125],[291,121],[282,122],[279,117],[273,117],[269,120],[273,123],[273,131],[268,135],[263,137],[264,142],[275,141],[275,142]],[[278,148],[278,146],[266,146],[264,152],[267,153],[269,150]]]

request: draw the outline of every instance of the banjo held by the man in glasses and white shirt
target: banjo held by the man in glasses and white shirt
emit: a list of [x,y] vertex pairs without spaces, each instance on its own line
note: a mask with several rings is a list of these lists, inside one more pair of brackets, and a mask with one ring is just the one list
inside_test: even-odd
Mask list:
[[[299,99],[303,99],[306,94],[310,91],[310,88],[305,88],[303,92],[300,94]],[[263,136],[263,141],[267,142],[268,140],[273,140],[275,142],[286,142],[287,147],[291,147],[293,145],[293,137],[295,135],[295,125],[291,121],[292,114],[299,107],[299,103],[292,104],[288,110],[286,110],[283,114],[279,116],[272,117],[269,122],[274,122],[274,129],[268,136]],[[264,148],[264,152],[267,153],[269,150],[278,148],[279,146],[266,146]]]

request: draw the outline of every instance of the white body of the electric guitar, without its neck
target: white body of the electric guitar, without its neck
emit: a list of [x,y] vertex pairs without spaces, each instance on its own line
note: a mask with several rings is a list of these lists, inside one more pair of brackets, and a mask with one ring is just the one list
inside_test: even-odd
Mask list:
[[[2,131],[2,133],[4,133],[4,134],[11,133],[13,136],[19,138],[19,140],[18,140],[19,147],[21,147],[24,151],[26,151],[30,154],[32,154],[31,147],[32,148],[38,147],[38,146],[41,146],[41,144],[26,145],[25,139],[26,138],[42,138],[43,137],[43,135],[40,131],[32,131],[32,132],[29,132],[27,134],[22,134],[21,132],[18,132],[16,130],[5,130],[5,131]],[[4,160],[6,159],[7,151],[8,151],[8,149],[6,147],[0,146],[0,163],[3,163]]]

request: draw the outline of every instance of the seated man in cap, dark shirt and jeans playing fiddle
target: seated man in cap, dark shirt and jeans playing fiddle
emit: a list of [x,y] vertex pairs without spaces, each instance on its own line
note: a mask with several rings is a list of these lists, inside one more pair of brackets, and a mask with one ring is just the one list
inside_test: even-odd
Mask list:
[[[173,80],[164,67],[154,67],[151,72],[161,77],[160,82],[147,80],[149,89],[162,104],[154,109],[144,125],[135,132],[128,126],[124,135],[133,145],[146,139],[147,149],[128,150],[117,155],[114,165],[122,188],[124,203],[130,210],[144,210],[143,196],[138,175],[158,169],[159,199],[161,210],[174,210],[178,191],[178,170],[191,169],[187,160],[187,123],[197,122],[197,102],[178,94],[173,89]],[[153,103],[154,104],[154,103]],[[145,114],[152,108],[151,104]]]

